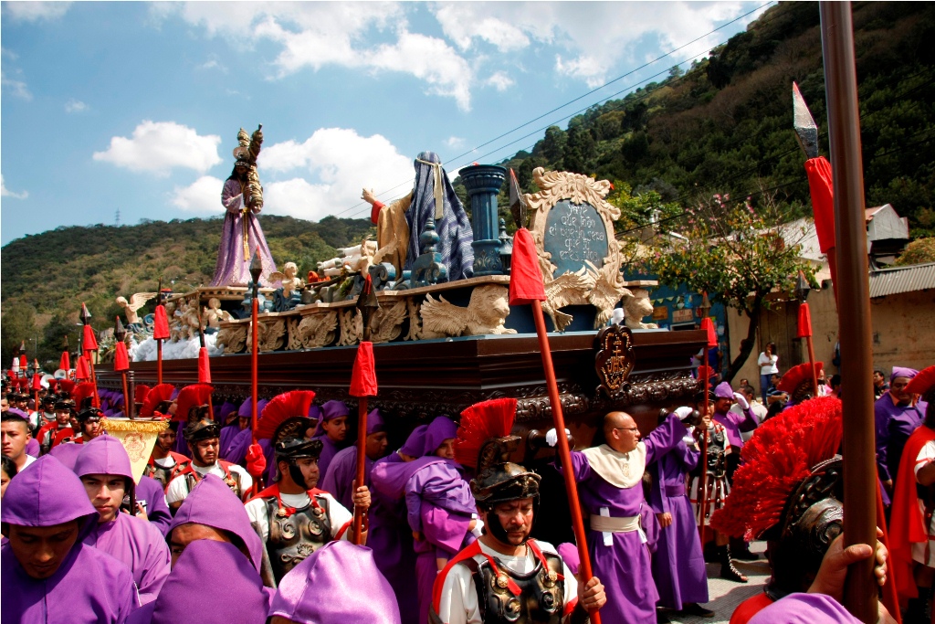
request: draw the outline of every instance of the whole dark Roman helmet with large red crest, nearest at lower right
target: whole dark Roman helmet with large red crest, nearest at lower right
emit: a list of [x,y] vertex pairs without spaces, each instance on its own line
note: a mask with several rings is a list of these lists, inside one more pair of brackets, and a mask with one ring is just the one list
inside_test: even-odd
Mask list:
[[805,591],[841,533],[841,400],[810,399],[767,420],[743,444],[741,467],[712,529],[765,539],[773,600]]

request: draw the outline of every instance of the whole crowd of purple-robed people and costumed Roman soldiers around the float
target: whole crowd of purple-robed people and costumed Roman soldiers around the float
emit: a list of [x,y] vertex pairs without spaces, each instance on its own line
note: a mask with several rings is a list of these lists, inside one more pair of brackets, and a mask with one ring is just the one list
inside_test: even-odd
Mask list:
[[[776,366],[772,351],[761,367]],[[896,575],[904,621],[930,618],[935,367],[895,368],[888,387],[874,375],[888,553],[841,545],[839,389],[815,396],[808,364],[761,372],[761,389],[764,375],[774,387],[759,398],[746,380],[736,391],[712,383],[693,405],[662,411],[646,436],[630,414],[606,414],[596,445],[535,471],[511,460],[518,438],[471,441],[477,432],[447,415],[391,448],[373,410],[362,483],[348,407],[315,405],[310,391],[260,400],[253,429],[252,399],[214,405],[209,385],[144,386],[137,414],[165,428],[142,474],[102,421],[122,415],[122,395],[61,381],[31,406],[5,392],[0,620],[712,617],[705,563],[747,582],[734,562],[757,558],[751,539],[767,542],[772,577],[732,622],[855,621],[840,604],[842,571],[871,557],[881,585]],[[511,423],[511,400],[484,405],[485,417]],[[530,434],[525,446],[551,457],[559,435]],[[467,448],[476,461],[463,459]],[[581,550],[536,537],[536,518],[552,511],[540,506],[546,471],[577,482]],[[803,491],[822,495],[787,504]]]

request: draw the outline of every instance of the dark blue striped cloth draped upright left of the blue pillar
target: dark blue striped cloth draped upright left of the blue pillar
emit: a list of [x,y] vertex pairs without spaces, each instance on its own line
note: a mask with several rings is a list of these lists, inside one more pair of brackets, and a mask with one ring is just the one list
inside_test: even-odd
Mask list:
[[[420,163],[441,163],[439,154],[422,152],[416,156],[415,188],[412,193],[412,205],[406,211],[406,222],[410,226],[409,252],[406,255],[404,269],[411,269],[412,264],[422,254],[419,237],[425,230],[425,223],[431,216],[435,218],[435,172],[434,167]],[[464,280],[474,275],[474,240],[468,213],[461,200],[454,194],[451,181],[444,168],[441,169],[441,182],[444,184],[444,212],[435,222],[435,231],[439,235],[436,251],[441,254],[441,263],[448,268],[448,281]]]

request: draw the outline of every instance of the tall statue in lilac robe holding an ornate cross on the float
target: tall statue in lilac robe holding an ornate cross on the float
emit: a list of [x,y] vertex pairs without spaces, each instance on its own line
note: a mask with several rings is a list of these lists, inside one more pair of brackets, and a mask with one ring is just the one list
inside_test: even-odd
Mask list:
[[237,133],[239,145],[234,149],[237,162],[221,191],[221,203],[227,212],[212,286],[246,286],[251,281],[250,261],[257,248],[263,264],[260,284],[274,288],[278,285],[269,277],[276,270],[276,264],[256,217],[263,209],[263,186],[256,173],[256,157],[263,143],[262,128],[260,125],[252,137],[243,128]]

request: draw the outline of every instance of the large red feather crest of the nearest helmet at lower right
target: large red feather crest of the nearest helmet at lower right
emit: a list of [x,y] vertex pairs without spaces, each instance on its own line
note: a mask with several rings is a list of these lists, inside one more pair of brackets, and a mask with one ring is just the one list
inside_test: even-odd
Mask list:
[[764,422],[743,444],[743,463],[712,528],[755,539],[779,523],[796,487],[838,453],[841,435],[841,399],[834,397],[807,400]]

